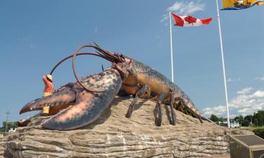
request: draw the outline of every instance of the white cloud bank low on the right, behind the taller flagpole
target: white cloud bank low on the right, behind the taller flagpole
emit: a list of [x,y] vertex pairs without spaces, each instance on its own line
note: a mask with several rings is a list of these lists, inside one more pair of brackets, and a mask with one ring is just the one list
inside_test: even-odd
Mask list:
[[[252,87],[246,87],[237,91],[238,96],[232,98],[229,102],[230,116],[249,115],[258,110],[264,109],[264,91],[253,91]],[[218,117],[226,117],[226,105],[218,105],[215,107],[206,107],[203,114],[207,117],[215,114]]]

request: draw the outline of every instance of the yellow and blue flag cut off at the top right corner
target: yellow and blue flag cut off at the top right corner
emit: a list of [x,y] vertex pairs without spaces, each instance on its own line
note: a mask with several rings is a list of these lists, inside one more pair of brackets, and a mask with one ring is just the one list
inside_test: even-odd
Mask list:
[[244,8],[250,8],[257,4],[261,6],[264,0],[222,0],[221,10],[239,10]]

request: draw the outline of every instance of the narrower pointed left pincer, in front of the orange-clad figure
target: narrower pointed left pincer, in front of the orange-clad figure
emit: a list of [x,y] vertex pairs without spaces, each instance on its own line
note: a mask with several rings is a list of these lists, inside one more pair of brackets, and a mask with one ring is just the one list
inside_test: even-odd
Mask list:
[[69,103],[75,101],[75,91],[70,88],[64,88],[61,91],[54,93],[51,96],[46,96],[44,98],[39,98],[27,103],[21,110],[20,114],[25,112],[30,112],[34,110],[42,110],[44,106],[50,106],[51,108],[63,108]]

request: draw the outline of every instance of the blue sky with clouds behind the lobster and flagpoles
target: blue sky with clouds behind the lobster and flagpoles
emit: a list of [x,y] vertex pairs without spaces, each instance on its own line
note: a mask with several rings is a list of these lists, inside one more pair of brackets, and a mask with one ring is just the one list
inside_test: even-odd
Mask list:
[[[219,1],[220,2],[220,1]],[[220,3],[220,6],[222,4]],[[95,41],[170,76],[168,8],[210,25],[173,27],[175,83],[206,114],[225,117],[225,91],[215,1],[0,1],[0,121],[16,121],[25,103],[42,96],[42,74],[83,44]],[[230,113],[264,108],[264,6],[220,11]],[[84,76],[110,63],[77,58]],[[54,72],[56,88],[75,81],[70,62]]]

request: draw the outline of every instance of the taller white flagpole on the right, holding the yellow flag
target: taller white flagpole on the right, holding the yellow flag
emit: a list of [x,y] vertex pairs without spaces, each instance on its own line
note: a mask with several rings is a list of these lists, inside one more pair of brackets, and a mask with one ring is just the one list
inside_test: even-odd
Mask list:
[[221,34],[221,25],[220,25],[220,15],[218,8],[218,0],[216,0],[216,7],[218,10],[218,29],[219,29],[219,37],[220,37],[220,47],[221,47],[221,55],[222,55],[222,74],[224,76],[224,84],[225,84],[225,102],[227,104],[227,126],[230,128],[230,111],[228,106],[228,98],[227,98],[227,81],[225,79],[225,60],[224,60],[224,52],[222,50],[222,34]]

